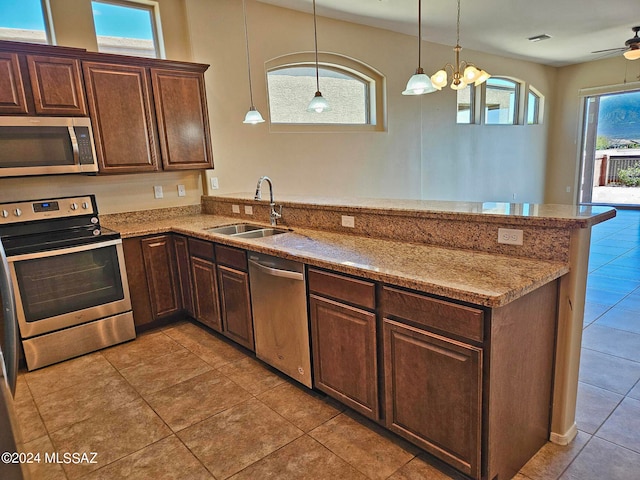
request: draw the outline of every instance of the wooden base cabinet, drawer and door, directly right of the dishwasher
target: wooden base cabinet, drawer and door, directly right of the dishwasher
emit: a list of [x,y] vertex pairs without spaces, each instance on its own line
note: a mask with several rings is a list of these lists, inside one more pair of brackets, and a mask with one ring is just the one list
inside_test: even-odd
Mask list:
[[378,420],[375,285],[309,269],[314,384]]

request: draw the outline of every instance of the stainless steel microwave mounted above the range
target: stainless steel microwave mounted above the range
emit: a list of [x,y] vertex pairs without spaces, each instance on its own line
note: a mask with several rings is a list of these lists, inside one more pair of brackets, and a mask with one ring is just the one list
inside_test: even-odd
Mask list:
[[0,177],[97,171],[90,119],[0,116]]

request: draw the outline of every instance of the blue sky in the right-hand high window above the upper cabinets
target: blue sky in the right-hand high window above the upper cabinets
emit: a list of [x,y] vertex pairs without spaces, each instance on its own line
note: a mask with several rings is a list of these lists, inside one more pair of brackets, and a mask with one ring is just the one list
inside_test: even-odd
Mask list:
[[98,36],[153,39],[150,10],[102,2],[91,5]]

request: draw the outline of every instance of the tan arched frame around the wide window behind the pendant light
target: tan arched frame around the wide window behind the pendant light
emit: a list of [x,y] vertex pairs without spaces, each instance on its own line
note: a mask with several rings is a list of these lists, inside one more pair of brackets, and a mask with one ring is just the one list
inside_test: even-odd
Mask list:
[[[315,68],[315,52],[298,52],[273,58],[265,62],[264,78],[267,96],[267,110],[270,131],[278,132],[381,132],[387,129],[386,114],[386,78],[373,67],[351,57],[336,53],[318,52],[318,65],[321,68],[334,70],[349,76],[355,76],[369,83],[367,110],[369,123],[273,123],[271,122],[271,106],[269,105],[269,72],[290,67]],[[322,83],[320,84],[322,91]],[[313,98],[309,95],[309,101]]]

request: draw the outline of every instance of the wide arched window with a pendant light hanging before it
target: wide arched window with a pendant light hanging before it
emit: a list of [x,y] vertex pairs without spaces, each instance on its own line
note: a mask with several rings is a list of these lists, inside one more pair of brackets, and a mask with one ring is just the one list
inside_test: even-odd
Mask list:
[[272,129],[384,130],[384,78],[379,72],[342,55],[321,53],[319,80],[320,91],[331,110],[307,112],[316,92],[313,53],[286,55],[267,62]]

